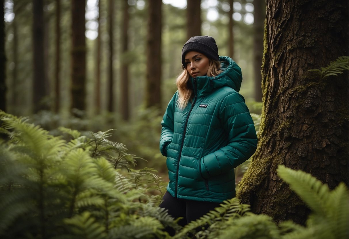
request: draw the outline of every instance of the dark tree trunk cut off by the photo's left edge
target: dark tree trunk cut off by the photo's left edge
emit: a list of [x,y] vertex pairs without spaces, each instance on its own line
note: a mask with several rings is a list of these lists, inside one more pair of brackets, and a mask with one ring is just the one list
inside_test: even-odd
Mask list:
[[0,110],[6,111],[6,54],[5,54],[5,20],[4,20],[4,0],[0,1]]

